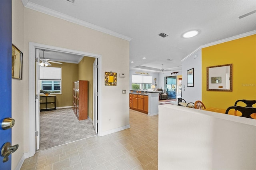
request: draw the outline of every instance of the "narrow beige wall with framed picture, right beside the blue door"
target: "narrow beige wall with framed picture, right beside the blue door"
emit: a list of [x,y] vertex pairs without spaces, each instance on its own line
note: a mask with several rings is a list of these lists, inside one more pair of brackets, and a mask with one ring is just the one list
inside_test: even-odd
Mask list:
[[[12,1],[12,43],[24,52],[24,8],[21,1]],[[23,55],[26,57],[26,55]],[[27,74],[24,72],[23,75]],[[16,152],[12,154],[12,169],[15,169],[18,162],[22,158],[24,153],[24,96],[27,96],[27,93],[24,93],[23,89],[24,79],[12,79],[12,118],[15,119],[15,125],[12,128],[12,145],[19,144],[19,148]]]

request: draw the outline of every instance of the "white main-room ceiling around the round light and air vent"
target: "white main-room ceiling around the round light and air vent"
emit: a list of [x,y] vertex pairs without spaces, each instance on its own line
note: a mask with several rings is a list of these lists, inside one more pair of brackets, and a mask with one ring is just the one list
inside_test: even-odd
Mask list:
[[[177,69],[201,45],[256,30],[255,0],[22,0],[122,34],[130,41],[130,69]],[[33,8],[33,7],[30,7]],[[194,38],[182,38],[199,30]],[[158,36],[160,33],[166,38]],[[142,59],[146,57],[146,59]],[[167,61],[171,59],[172,61]],[[58,60],[60,61],[60,60]],[[173,69],[172,69],[173,68]]]

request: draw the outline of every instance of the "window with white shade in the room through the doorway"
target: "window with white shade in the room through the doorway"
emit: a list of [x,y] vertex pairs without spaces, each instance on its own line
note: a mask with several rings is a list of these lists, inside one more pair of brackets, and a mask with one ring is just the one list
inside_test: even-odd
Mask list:
[[40,90],[61,93],[61,68],[40,67]]

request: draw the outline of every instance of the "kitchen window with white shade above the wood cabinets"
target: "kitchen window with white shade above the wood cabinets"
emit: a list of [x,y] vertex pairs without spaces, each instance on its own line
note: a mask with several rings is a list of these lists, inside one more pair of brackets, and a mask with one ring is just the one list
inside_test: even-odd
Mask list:
[[132,74],[132,90],[150,90],[152,76]]

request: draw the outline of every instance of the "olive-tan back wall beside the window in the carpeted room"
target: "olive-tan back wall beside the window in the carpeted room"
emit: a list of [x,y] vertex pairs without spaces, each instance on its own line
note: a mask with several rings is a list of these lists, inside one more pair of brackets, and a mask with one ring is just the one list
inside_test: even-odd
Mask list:
[[72,106],[73,82],[78,80],[78,64],[51,63],[50,67],[61,67],[61,95],[56,95],[56,107]]

